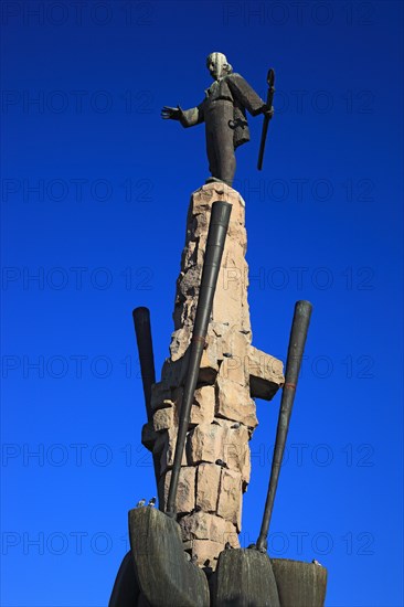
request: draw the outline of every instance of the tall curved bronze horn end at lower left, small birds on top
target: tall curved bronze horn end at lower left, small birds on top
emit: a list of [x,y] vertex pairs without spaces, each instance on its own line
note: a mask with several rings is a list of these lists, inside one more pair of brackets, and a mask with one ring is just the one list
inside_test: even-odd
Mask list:
[[209,607],[208,579],[187,560],[180,525],[155,508],[129,511],[137,583],[152,607]]

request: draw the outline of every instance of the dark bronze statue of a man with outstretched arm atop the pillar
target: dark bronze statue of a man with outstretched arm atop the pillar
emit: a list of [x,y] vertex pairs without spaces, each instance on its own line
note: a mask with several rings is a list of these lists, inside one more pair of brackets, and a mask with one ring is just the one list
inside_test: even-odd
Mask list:
[[214,83],[205,90],[203,102],[185,110],[180,106],[164,106],[161,117],[179,120],[185,128],[205,123],[209,170],[212,174],[208,181],[224,181],[232,185],[236,167],[234,150],[249,141],[245,110],[252,116],[272,116],[274,110],[240,74],[233,73],[223,53],[211,53],[206,66]]

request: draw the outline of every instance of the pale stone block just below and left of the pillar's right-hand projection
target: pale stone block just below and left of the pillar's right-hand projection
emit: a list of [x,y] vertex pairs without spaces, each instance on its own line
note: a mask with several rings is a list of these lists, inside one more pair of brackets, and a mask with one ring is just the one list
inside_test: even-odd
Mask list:
[[226,419],[241,422],[244,426],[255,428],[258,424],[256,407],[247,387],[242,388],[235,382],[217,377],[216,415]]

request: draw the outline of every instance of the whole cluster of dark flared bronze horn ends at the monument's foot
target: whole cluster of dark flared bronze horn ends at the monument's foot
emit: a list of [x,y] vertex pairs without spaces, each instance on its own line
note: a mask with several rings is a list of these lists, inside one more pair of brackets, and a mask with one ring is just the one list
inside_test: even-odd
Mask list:
[[183,551],[180,525],[153,508],[129,512],[131,550],[116,577],[109,607],[322,607],[327,569],[269,558],[254,549],[224,550],[208,577]]

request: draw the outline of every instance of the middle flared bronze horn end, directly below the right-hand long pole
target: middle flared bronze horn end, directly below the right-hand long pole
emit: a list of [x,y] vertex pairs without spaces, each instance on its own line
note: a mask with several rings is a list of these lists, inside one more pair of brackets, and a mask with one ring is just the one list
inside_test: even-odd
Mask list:
[[211,598],[213,607],[280,607],[269,556],[251,549],[221,552]]

